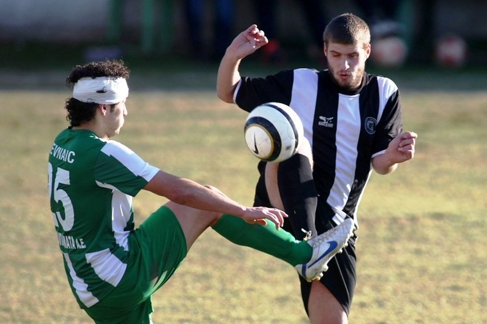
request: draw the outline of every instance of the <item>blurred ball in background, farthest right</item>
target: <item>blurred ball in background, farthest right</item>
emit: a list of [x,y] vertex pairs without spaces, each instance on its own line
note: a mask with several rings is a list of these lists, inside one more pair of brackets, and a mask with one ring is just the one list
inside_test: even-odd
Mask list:
[[460,36],[443,36],[436,41],[434,57],[440,66],[459,68],[467,58],[467,43]]

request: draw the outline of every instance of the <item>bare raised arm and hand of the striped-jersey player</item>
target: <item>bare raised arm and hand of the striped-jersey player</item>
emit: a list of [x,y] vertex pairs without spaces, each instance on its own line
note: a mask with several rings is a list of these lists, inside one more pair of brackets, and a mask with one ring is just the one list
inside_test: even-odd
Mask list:
[[255,24],[235,37],[226,49],[218,69],[216,86],[218,98],[227,103],[233,103],[233,92],[240,81],[240,62],[268,42],[264,32],[259,30]]

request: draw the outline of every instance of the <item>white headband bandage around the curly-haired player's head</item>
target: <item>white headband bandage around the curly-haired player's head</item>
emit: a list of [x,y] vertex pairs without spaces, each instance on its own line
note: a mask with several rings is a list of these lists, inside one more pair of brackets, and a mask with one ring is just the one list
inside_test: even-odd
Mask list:
[[99,76],[79,79],[73,87],[73,98],[82,102],[117,104],[129,96],[129,87],[124,78]]

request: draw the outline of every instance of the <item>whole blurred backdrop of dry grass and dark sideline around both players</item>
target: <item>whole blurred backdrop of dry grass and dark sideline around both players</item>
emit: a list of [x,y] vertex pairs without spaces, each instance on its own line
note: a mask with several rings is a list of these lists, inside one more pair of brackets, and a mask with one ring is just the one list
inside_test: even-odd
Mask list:
[[[130,122],[117,140],[251,204],[246,114],[215,91],[225,48],[257,23],[270,43],[245,58],[244,75],[321,70],[323,29],[344,12],[369,23],[367,71],[394,80],[405,128],[419,134],[414,160],[374,175],[361,203],[350,322],[487,323],[486,0],[0,0],[0,323],[90,323],[66,282],[46,190],[74,65],[123,58]],[[161,203],[139,194],[136,225]],[[154,295],[155,323],[309,323],[279,260],[212,231],[192,250]]]

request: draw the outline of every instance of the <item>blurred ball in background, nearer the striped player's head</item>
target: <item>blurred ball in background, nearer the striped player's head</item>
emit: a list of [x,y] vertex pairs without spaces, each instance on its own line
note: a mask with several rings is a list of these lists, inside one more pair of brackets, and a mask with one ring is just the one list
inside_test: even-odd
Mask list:
[[377,66],[398,68],[408,56],[406,43],[397,36],[378,38],[371,45],[371,59]]

